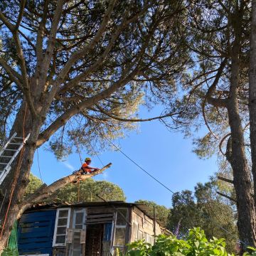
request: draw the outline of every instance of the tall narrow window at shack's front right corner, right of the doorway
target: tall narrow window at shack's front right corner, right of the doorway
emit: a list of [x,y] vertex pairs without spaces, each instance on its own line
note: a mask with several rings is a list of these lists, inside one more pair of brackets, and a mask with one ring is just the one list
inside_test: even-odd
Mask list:
[[125,245],[125,230],[127,226],[127,208],[118,209],[115,232],[114,232],[114,247],[124,247]]

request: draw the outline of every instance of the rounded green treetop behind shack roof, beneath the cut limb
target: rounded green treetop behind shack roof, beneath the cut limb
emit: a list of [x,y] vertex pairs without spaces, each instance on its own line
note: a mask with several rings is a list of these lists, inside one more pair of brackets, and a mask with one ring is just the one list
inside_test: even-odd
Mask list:
[[51,198],[60,202],[77,203],[78,188],[80,202],[98,202],[102,201],[96,195],[99,195],[105,201],[125,201],[124,191],[122,188],[109,181],[94,181],[88,178],[86,181],[81,181],[78,185],[68,184],[64,188],[60,188],[56,193],[53,193]]

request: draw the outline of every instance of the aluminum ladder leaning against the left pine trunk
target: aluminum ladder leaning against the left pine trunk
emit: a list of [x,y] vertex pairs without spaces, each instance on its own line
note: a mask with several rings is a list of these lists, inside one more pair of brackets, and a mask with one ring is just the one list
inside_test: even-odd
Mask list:
[[16,137],[17,133],[9,139],[0,151],[0,185],[11,170],[11,163],[14,161],[30,134],[23,140],[23,137]]

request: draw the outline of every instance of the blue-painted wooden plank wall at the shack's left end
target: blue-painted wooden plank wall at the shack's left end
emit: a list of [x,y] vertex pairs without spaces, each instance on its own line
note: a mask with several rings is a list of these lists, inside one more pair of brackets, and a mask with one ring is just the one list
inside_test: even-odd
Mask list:
[[56,210],[25,213],[18,223],[18,252],[53,255]]

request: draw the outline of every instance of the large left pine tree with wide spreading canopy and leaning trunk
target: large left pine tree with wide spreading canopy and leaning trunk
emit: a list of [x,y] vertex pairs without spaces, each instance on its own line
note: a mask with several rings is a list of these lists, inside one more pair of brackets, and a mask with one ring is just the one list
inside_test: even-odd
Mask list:
[[177,26],[184,6],[180,0],[1,1],[0,138],[30,137],[20,164],[17,159],[0,184],[8,191],[0,220],[10,210],[0,250],[21,208],[36,148],[48,142],[59,158],[76,144],[103,149],[106,139],[142,121],[142,103],[165,104],[161,118],[176,118],[171,95],[190,61],[178,35],[184,28]]

